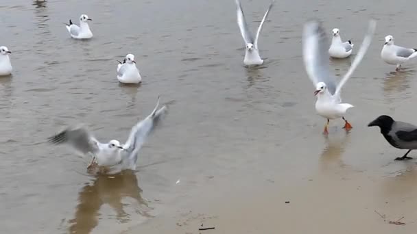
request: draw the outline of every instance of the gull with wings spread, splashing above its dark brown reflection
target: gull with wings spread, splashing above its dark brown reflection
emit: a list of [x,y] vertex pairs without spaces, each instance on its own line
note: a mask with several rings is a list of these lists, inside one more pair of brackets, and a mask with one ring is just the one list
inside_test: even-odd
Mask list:
[[141,146],[167,112],[165,105],[160,109],[158,106],[159,97],[154,111],[132,127],[129,138],[123,145],[118,140],[101,143],[83,126],[68,127],[48,140],[53,144],[71,144],[78,152],[90,155],[92,160],[87,168],[97,164],[108,168],[110,174],[126,169],[136,170],[136,160]]

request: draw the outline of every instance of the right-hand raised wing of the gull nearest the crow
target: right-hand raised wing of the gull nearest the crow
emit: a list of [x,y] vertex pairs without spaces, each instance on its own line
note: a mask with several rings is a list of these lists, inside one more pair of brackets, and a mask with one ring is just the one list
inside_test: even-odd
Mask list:
[[340,97],[340,91],[342,90],[342,87],[344,86],[346,81],[348,81],[348,79],[352,75],[353,71],[355,71],[356,67],[359,65],[362,58],[364,58],[364,55],[365,55],[366,51],[368,51],[368,48],[370,46],[370,42],[372,41],[372,37],[374,36],[375,27],[377,27],[377,21],[370,20],[369,21],[369,26],[368,26],[368,31],[366,32],[364,41],[361,44],[361,48],[359,49],[359,51],[356,54],[355,60],[353,60],[353,63],[350,66],[346,75],[344,75],[344,77],[339,82],[339,84],[337,84],[337,88],[336,88],[336,92],[335,92],[335,96],[337,98]]

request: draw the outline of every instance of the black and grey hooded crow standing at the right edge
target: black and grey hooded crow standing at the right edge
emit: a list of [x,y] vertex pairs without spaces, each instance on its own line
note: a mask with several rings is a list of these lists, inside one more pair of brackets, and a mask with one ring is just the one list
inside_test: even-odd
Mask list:
[[379,116],[369,123],[368,127],[378,126],[381,134],[395,148],[405,148],[407,153],[403,157],[397,157],[395,160],[412,159],[407,157],[408,153],[417,149],[417,126],[407,122],[393,120],[390,116]]

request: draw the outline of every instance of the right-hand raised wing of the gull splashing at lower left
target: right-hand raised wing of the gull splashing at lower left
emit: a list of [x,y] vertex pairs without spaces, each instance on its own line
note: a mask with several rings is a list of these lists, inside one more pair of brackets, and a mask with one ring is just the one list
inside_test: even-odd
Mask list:
[[[161,107],[160,109],[158,109],[158,105],[159,105],[159,96],[158,96],[158,102],[156,103],[156,107],[154,111],[149,116],[147,116],[144,120],[142,120],[141,122],[138,122],[136,125],[132,127],[129,138],[126,141],[126,144],[123,145],[123,148],[126,151],[130,152],[131,157],[134,157],[134,162],[136,162],[137,153],[139,152],[139,149],[145,142],[147,136],[150,133],[152,133],[156,125],[158,125],[158,122],[160,122],[160,119],[167,112],[167,107],[165,105]],[[132,153],[134,155],[132,155]]]

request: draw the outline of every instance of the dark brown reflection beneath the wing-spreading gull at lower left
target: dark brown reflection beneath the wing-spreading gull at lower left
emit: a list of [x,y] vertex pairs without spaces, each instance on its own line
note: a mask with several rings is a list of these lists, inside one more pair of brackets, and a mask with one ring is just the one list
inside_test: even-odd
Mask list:
[[152,217],[147,213],[150,208],[147,201],[142,198],[141,192],[134,171],[125,170],[119,174],[98,175],[93,184],[85,185],[80,191],[75,218],[69,220],[69,232],[91,233],[99,223],[98,216],[102,216],[99,210],[103,205],[110,206],[117,213],[117,222],[129,222],[130,215],[123,209],[127,207],[126,200],[122,202],[123,198],[133,198],[139,204],[129,205],[136,207],[136,213],[145,218]]

